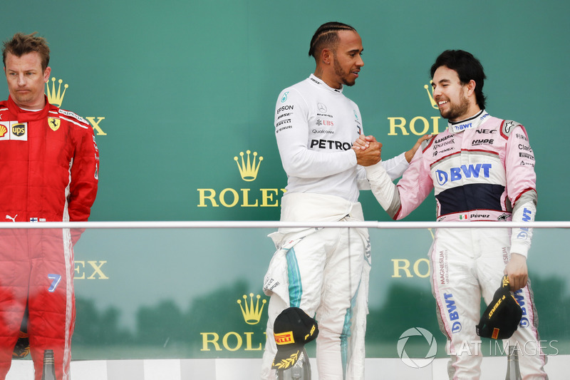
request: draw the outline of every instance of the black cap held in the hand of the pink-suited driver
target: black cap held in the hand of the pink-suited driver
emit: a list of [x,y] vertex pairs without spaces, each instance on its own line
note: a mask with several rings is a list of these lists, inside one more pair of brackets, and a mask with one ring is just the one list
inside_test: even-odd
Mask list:
[[509,292],[509,277],[505,274],[475,329],[483,338],[507,339],[517,330],[521,318],[522,309]]

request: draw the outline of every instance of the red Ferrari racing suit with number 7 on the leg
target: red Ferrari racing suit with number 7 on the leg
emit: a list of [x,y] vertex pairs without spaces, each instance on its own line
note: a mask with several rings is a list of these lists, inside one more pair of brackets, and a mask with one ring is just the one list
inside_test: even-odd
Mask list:
[[[86,221],[98,185],[93,128],[48,103],[25,111],[0,102],[0,215],[4,222]],[[75,323],[73,243],[68,229],[0,230],[0,379],[28,308],[36,380],[53,350],[58,379],[69,378]]]

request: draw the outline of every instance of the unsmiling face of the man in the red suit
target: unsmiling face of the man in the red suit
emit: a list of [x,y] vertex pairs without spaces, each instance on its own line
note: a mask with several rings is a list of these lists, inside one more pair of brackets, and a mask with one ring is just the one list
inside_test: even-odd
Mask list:
[[20,108],[40,110],[45,106],[43,86],[49,79],[51,68],[41,68],[41,56],[36,51],[15,56],[6,55],[6,81],[14,103]]

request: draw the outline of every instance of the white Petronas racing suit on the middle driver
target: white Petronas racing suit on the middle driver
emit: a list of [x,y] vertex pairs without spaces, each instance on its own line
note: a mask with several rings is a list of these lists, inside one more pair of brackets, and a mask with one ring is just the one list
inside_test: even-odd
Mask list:
[[[362,133],[361,115],[342,90],[311,75],[282,91],[276,102],[276,140],[288,176],[282,221],[363,220],[358,192],[370,185],[351,149]],[[408,167],[404,154],[384,165],[393,178]],[[270,236],[278,249],[264,279],[271,299],[261,377],[275,379],[275,318],[286,307],[300,307],[318,322],[318,376],[363,379],[368,232],[281,228]]]

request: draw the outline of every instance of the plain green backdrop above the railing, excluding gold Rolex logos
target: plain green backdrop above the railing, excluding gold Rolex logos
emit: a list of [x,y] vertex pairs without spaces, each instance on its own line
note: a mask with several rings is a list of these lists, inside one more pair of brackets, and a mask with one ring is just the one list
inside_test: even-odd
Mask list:
[[[361,108],[365,132],[383,142],[384,157],[417,139],[388,135],[388,118],[439,116],[423,88],[429,68],[441,51],[465,49],[486,70],[487,111],[527,127],[538,219],[566,220],[569,8],[565,1],[12,1],[2,6],[0,36],[46,36],[52,76],[69,85],[62,107],[105,118],[91,220],[278,220],[279,207],[197,207],[197,189],[285,187],[276,97],[314,71],[309,41],[331,20],[363,38],[365,66],[346,95]],[[234,162],[246,150],[264,157],[251,183]],[[368,220],[388,220],[371,194],[362,201]],[[408,219],[434,215],[428,200]]]

